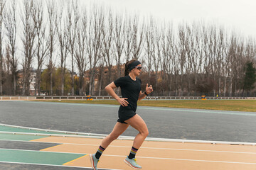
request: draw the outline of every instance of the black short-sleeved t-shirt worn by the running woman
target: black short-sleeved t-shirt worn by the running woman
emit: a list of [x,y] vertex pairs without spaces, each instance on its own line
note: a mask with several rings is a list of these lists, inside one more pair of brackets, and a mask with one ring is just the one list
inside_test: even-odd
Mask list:
[[[134,81],[131,77],[120,77],[114,81],[114,84],[121,88],[122,98],[128,98],[129,106],[135,112],[137,109],[137,101],[139,99],[139,93],[142,90],[142,81],[139,78],[136,78]],[[121,107],[123,107],[121,105]],[[120,107],[120,108],[121,108]],[[125,108],[125,107],[123,107]]]

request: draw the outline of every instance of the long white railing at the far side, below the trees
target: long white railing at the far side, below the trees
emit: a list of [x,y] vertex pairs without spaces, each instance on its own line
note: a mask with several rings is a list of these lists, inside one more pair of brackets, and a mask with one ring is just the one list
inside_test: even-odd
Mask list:
[[[112,96],[0,96],[0,101],[24,100],[113,100]],[[201,96],[146,96],[144,100],[200,100]],[[206,97],[208,100],[256,100],[256,97]]]

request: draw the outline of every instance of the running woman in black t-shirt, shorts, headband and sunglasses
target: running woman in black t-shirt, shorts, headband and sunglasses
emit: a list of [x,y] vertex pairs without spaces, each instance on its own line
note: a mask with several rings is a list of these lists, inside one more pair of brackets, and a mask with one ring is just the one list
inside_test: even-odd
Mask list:
[[[116,140],[119,135],[122,135],[129,125],[138,130],[139,133],[135,137],[131,152],[129,153],[129,156],[124,159],[124,162],[134,169],[142,169],[142,166],[139,166],[136,162],[135,154],[139,147],[141,147],[145,138],[149,135],[149,130],[146,127],[144,120],[136,113],[137,101],[142,100],[145,96],[150,94],[153,91],[153,88],[151,85],[148,86],[148,84],[146,84],[146,91],[142,93],[142,81],[137,78],[141,72],[141,62],[138,60],[131,60],[125,64],[124,77],[120,77],[105,87],[107,93],[120,103],[118,111],[119,119],[117,120],[116,125],[114,125],[110,135],[107,135],[107,137],[102,140],[97,152],[95,154],[90,154],[92,168],[95,170],[97,170],[97,163],[99,162],[102,152],[104,152],[113,140]],[[122,98],[119,98],[119,96],[114,93],[114,89],[119,86],[121,87]]]

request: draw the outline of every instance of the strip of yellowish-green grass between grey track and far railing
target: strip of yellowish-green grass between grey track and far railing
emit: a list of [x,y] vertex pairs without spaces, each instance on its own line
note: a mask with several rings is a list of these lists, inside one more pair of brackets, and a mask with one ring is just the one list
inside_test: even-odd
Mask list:
[[[95,104],[114,104],[119,105],[114,100],[94,100],[94,101],[78,101],[78,100],[40,100],[51,102],[66,103],[95,103]],[[201,108],[222,111],[247,111],[256,112],[256,100],[159,100],[159,101],[139,101],[139,106],[155,106],[168,108]]]

